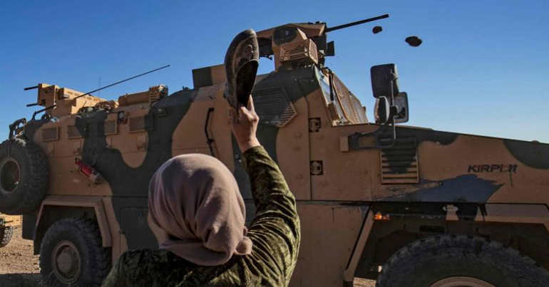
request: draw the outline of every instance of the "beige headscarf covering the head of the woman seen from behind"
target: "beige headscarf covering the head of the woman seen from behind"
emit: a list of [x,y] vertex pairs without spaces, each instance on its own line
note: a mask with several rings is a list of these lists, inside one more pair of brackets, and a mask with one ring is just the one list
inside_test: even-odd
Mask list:
[[150,179],[148,204],[160,249],[201,266],[252,251],[237,182],[215,157],[189,154],[165,162]]

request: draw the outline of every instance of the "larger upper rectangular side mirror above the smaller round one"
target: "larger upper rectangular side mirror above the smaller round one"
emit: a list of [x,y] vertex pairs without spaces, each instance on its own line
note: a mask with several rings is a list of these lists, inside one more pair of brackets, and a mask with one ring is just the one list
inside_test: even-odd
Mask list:
[[[384,64],[370,68],[371,91],[374,98],[385,96],[391,98],[399,94],[399,73],[395,64]],[[391,95],[391,85],[393,87]]]

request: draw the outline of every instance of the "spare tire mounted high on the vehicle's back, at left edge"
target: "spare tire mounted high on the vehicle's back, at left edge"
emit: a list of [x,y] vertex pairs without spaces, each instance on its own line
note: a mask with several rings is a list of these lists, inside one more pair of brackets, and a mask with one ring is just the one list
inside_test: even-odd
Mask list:
[[0,212],[33,212],[48,188],[48,157],[41,148],[23,139],[0,144]]

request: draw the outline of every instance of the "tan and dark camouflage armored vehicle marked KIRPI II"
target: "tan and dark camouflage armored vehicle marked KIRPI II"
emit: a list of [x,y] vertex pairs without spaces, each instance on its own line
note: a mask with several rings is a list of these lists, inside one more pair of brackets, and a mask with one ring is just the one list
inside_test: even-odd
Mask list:
[[[257,33],[261,56],[275,63],[252,93],[258,136],[302,221],[290,285],[549,286],[549,145],[401,125],[408,96],[393,64],[371,67],[369,121],[327,66],[335,28]],[[0,212],[23,214],[23,236],[53,286],[97,286],[124,251],[156,248],[148,182],[175,155],[224,162],[253,216],[224,68],[197,68],[193,81],[118,100],[35,87],[43,115],[14,122],[0,145]]]

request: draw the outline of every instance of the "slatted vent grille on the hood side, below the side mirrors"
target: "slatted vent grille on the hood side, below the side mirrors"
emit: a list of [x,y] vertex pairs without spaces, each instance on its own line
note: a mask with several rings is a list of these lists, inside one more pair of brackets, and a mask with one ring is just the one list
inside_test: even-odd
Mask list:
[[381,149],[381,183],[414,184],[419,182],[419,163],[415,137],[396,140],[391,148]]

